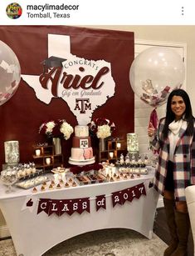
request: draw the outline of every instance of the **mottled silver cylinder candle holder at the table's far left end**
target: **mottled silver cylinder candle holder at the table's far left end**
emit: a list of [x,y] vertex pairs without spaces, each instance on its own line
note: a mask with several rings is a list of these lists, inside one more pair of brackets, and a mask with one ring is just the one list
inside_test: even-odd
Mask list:
[[17,140],[10,140],[4,142],[5,149],[5,163],[17,164],[19,163],[19,142]]

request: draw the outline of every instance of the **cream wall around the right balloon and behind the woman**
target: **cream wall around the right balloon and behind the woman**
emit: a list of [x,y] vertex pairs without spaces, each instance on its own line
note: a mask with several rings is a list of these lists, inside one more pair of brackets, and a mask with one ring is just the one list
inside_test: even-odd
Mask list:
[[[92,27],[92,26],[88,26]],[[195,115],[195,26],[94,26],[93,28],[103,29],[117,29],[124,31],[134,32],[135,42],[147,41],[147,42],[159,42],[165,43],[170,46],[180,46],[183,44],[184,48],[187,48],[187,53],[183,53],[183,50],[178,49],[179,54],[185,57],[186,63],[186,78],[185,89],[188,92],[193,107],[193,113]],[[177,46],[178,47],[178,46]],[[136,46],[135,51],[139,50]],[[137,52],[135,52],[137,53]],[[162,118],[165,114],[166,104],[157,109],[158,118]],[[139,137],[139,152],[149,153],[149,139],[147,136],[147,127],[149,122],[149,115],[153,108],[149,105],[142,103],[135,96],[135,108],[134,108],[134,132]]]

